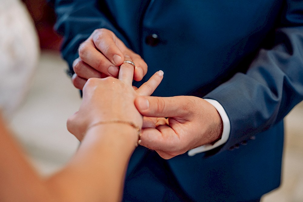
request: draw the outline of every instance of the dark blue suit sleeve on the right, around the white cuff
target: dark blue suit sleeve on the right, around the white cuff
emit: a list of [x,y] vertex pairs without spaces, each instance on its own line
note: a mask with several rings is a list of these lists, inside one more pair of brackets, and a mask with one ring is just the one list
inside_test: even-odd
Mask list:
[[247,72],[205,96],[217,100],[230,119],[229,140],[221,150],[271,128],[303,99],[302,13],[303,1],[288,1],[273,47],[261,49]]

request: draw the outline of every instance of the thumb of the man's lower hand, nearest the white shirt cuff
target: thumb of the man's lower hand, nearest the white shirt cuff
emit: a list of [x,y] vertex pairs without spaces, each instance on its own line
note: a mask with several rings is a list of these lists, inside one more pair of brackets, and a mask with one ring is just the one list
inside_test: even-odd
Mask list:
[[143,116],[183,117],[188,113],[185,97],[138,96],[135,99],[135,106]]

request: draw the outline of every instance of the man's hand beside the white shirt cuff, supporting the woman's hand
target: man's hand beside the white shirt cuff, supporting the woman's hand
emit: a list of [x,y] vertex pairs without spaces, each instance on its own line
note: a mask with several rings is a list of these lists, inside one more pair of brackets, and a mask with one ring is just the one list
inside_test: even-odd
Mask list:
[[140,96],[135,99],[135,106],[146,116],[141,145],[157,151],[162,158],[184,154],[222,136],[220,114],[202,98]]

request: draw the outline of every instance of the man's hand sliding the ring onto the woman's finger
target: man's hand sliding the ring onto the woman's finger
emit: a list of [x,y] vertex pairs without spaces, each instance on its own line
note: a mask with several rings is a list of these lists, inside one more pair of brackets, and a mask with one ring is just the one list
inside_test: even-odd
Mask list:
[[82,90],[89,78],[117,77],[119,66],[129,58],[136,65],[133,79],[141,81],[147,72],[147,65],[140,55],[127,48],[108,29],[96,29],[78,49],[79,58],[73,62],[75,74],[72,77],[76,88]]

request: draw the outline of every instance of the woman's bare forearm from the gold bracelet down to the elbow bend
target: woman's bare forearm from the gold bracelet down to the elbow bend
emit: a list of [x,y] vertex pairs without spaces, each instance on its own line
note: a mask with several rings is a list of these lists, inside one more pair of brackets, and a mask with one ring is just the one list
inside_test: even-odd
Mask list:
[[137,140],[135,129],[129,125],[91,128],[73,159],[48,180],[48,186],[73,201],[120,200],[128,160]]

